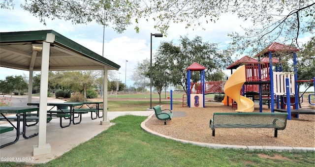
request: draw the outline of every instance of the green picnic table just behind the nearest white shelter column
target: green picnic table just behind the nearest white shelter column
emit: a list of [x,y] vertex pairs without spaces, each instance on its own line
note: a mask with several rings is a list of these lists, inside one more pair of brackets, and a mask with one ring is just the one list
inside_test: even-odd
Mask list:
[[[39,107],[39,103],[28,103],[27,105]],[[74,118],[75,118],[74,107],[75,106],[82,106],[82,105],[83,105],[83,103],[71,103],[71,102],[68,102],[68,103],[47,103],[47,106],[51,106],[51,109],[49,109],[47,111],[47,113],[49,113],[48,114],[49,116],[60,117],[60,127],[65,128],[65,127],[68,127],[71,125],[71,121],[74,125],[79,124],[81,122],[81,119],[82,119],[81,115],[80,115],[80,121],[79,122],[74,121]],[[55,107],[57,108],[57,111],[53,110]],[[69,108],[69,110],[64,109],[64,108]],[[66,126],[63,126],[62,125],[62,118],[66,119],[66,117],[69,118],[69,124]]]

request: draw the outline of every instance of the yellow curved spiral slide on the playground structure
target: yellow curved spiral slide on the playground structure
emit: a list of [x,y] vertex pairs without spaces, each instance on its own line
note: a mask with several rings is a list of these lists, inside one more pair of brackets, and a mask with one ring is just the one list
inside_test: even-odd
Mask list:
[[228,96],[237,103],[237,110],[235,110],[237,112],[254,111],[254,102],[240,94],[245,81],[245,65],[242,65],[236,69],[224,85],[224,98]]

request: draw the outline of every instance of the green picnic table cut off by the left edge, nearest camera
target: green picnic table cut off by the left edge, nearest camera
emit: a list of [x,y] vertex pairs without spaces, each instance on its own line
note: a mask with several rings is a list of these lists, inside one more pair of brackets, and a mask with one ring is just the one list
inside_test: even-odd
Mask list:
[[[11,144],[14,144],[16,143],[19,138],[20,138],[20,119],[21,119],[21,114],[22,114],[22,119],[23,119],[23,131],[22,131],[22,134],[23,134],[23,138],[24,139],[30,139],[32,137],[35,137],[38,135],[37,134],[33,134],[31,136],[26,136],[26,119],[27,119],[27,116],[26,116],[26,112],[32,112],[32,111],[38,111],[38,107],[35,108],[35,107],[0,107],[0,114],[3,116],[3,118],[9,122],[11,124],[11,126],[16,129],[16,138],[14,141],[12,142],[9,142],[9,143],[6,143],[6,144],[2,144],[0,146],[0,148],[2,147],[5,147],[5,146],[8,146],[8,145],[11,145]],[[6,116],[4,115],[4,113],[15,113],[16,114],[16,126],[12,123],[11,120],[7,119]],[[11,129],[10,129],[11,130]],[[8,131],[6,131],[8,132]]]

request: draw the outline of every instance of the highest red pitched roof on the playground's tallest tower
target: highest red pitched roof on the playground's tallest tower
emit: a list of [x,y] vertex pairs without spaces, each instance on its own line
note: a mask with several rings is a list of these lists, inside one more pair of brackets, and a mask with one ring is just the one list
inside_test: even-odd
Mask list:
[[[281,53],[293,53],[293,52],[297,52],[299,51],[299,49],[297,48],[293,48],[284,44],[280,44],[278,42],[274,42],[271,45],[269,45],[267,48],[265,48],[264,50],[262,50],[261,52],[259,52],[257,55],[255,55],[255,57],[258,56],[268,56],[268,52],[281,52]],[[280,54],[278,54],[280,55]]]

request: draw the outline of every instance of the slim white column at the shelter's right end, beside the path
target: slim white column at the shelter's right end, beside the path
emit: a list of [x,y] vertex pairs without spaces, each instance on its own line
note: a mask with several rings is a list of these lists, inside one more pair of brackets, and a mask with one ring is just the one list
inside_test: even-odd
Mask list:
[[107,118],[107,67],[104,66],[103,71],[103,120],[100,121],[101,125],[109,125],[110,121]]

